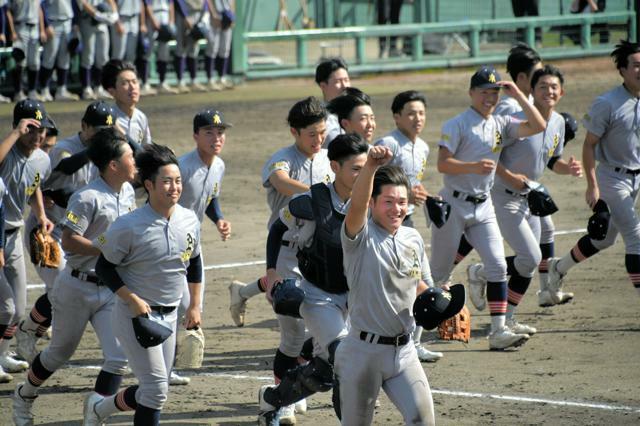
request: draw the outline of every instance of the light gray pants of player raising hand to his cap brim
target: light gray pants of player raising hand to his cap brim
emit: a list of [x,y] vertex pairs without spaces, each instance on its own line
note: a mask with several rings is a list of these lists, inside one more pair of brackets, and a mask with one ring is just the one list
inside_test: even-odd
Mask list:
[[473,204],[453,196],[450,189],[440,191],[442,198],[451,204],[451,214],[442,228],[431,227],[431,256],[429,265],[436,284],[448,279],[464,233],[478,251],[488,281],[503,282],[507,279],[507,263],[504,259],[502,235],[496,222],[491,197],[481,204]]

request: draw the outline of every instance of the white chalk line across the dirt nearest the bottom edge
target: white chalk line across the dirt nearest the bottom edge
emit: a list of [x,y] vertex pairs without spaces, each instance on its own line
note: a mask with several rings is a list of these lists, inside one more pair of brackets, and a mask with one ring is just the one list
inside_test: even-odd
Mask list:
[[[97,365],[70,365],[69,368],[99,370],[101,367]],[[185,376],[187,375],[185,374]],[[208,373],[208,372],[192,373],[192,372],[189,372],[188,376],[273,382],[273,376],[252,376],[252,375],[240,374],[240,373]],[[619,405],[619,404],[581,402],[581,401],[550,399],[550,398],[540,398],[540,397],[530,397],[530,396],[517,396],[517,395],[500,395],[500,394],[485,393],[485,392],[465,392],[465,391],[454,391],[454,390],[447,390],[447,389],[431,389],[431,393],[439,394],[439,395],[448,395],[448,396],[459,396],[463,398],[496,399],[501,401],[547,404],[547,405],[556,405],[556,406],[562,406],[562,407],[592,408],[595,410],[628,411],[632,413],[640,413],[640,407],[632,407],[629,405]]]

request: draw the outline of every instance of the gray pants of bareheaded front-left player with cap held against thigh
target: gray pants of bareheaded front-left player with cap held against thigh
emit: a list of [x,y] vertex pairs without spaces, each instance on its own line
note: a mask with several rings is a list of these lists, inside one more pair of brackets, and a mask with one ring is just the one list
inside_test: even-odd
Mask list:
[[113,332],[129,360],[131,371],[138,379],[136,402],[154,410],[161,410],[169,393],[169,374],[175,356],[177,309],[167,315],[152,312],[171,324],[173,333],[158,346],[143,348],[136,340],[131,323],[131,311],[119,298],[111,316]]

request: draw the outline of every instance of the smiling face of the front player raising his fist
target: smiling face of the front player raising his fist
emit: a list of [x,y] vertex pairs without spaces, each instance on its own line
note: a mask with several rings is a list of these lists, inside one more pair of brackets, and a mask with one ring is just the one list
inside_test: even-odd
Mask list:
[[383,185],[380,194],[369,200],[369,207],[373,221],[390,234],[394,234],[407,216],[407,188],[404,185]]

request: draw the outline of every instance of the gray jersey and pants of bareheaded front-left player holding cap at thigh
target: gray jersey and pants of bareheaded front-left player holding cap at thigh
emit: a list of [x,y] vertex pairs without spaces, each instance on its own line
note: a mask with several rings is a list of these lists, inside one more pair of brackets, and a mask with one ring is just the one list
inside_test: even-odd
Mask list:
[[180,205],[166,219],[146,204],[116,219],[96,244],[103,256],[117,265],[129,290],[152,307],[150,315],[164,319],[173,328],[161,345],[143,348],[133,331],[131,311],[116,299],[113,332],[139,381],[136,401],[160,410],[167,399],[175,355],[175,308],[182,298],[187,265],[200,254],[200,222],[194,212]]

